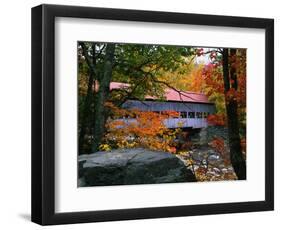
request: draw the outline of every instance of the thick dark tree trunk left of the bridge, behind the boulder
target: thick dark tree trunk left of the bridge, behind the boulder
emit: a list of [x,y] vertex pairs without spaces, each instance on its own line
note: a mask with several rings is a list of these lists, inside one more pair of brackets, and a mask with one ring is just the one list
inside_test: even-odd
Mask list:
[[114,61],[114,44],[107,44],[105,49],[105,59],[103,65],[103,71],[98,76],[98,87],[94,101],[94,127],[93,127],[93,144],[92,151],[96,152],[99,149],[99,145],[102,141],[102,137],[105,132],[106,122],[106,109],[104,104],[108,99],[110,93],[110,81],[112,77],[112,66]]

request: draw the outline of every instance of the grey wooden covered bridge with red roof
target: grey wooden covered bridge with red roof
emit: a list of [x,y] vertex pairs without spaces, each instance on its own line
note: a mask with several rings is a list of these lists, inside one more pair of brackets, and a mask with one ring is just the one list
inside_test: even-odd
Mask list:
[[[128,87],[125,83],[111,82],[110,89]],[[215,112],[214,103],[208,101],[203,93],[176,91],[168,88],[165,90],[165,101],[151,96],[146,96],[144,101],[128,99],[122,107],[125,109],[139,109],[140,111],[176,111],[179,117],[165,120],[168,128],[203,128],[207,127],[207,116]],[[124,118],[125,119],[125,118]]]

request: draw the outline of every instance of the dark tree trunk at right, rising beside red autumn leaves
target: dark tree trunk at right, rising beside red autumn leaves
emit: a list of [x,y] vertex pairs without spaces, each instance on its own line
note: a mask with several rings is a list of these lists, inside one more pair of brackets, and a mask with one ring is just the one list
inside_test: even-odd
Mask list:
[[[235,56],[236,49],[230,49],[230,55],[231,57]],[[227,94],[230,88],[233,88],[235,92],[237,91],[238,84],[236,74],[237,73],[235,65],[230,65],[229,67],[229,49],[223,49],[223,79],[228,123],[230,159],[238,180],[245,180],[246,162],[241,151],[237,100],[235,100],[235,97],[229,97]]]

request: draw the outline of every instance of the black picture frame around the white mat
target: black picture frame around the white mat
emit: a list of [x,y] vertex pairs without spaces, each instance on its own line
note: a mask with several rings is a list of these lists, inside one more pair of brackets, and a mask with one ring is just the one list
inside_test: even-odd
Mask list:
[[[55,18],[265,29],[265,200],[55,213]],[[40,5],[32,8],[32,221],[41,225],[267,211],[274,209],[274,20],[171,12]]]

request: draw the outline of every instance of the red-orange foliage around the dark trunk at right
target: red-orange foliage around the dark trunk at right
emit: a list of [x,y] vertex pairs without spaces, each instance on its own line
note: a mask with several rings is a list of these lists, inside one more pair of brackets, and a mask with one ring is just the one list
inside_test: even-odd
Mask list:
[[[229,56],[229,65],[235,67],[237,82],[230,79],[230,84],[237,84],[237,90],[231,87],[225,91],[222,75],[222,61],[218,53],[210,54],[211,62],[202,71],[202,77],[206,84],[204,92],[209,99],[214,100],[218,113],[216,117],[210,117],[210,124],[226,125],[225,103],[237,101],[238,115],[241,127],[246,124],[246,51],[238,50],[236,55]],[[217,119],[217,121],[215,121]]]

